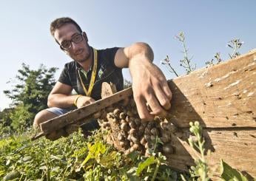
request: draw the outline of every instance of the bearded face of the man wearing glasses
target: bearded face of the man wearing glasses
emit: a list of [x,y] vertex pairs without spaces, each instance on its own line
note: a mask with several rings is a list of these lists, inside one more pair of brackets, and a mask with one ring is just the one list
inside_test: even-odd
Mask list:
[[[54,38],[58,41],[58,44],[63,44],[65,41],[71,41],[75,35],[81,34],[74,24],[64,24],[59,29],[55,30]],[[71,42],[71,47],[64,52],[67,53],[73,60],[78,61],[80,63],[87,61],[90,58],[90,47],[88,45],[87,35],[85,33],[83,35],[83,40],[79,43],[75,44],[75,42]]]

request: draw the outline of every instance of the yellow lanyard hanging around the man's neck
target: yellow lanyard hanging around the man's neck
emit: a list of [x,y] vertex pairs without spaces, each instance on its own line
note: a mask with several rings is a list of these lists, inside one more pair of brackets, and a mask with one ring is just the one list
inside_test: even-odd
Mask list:
[[96,77],[96,72],[97,72],[97,64],[98,64],[98,60],[97,60],[97,50],[93,49],[93,55],[94,55],[94,61],[93,61],[93,68],[92,68],[92,76],[90,79],[90,85],[88,87],[88,90],[86,89],[86,87],[84,86],[84,83],[82,81],[81,75],[80,75],[80,71],[78,70],[78,75],[81,81],[81,84],[83,86],[84,89],[84,93],[90,97],[91,93],[92,93],[92,88],[94,86],[94,82],[95,82],[95,77]]

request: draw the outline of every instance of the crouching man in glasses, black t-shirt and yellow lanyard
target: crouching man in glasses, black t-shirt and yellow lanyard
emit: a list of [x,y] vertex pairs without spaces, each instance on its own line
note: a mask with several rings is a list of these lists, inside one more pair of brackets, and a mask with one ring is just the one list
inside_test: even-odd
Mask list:
[[[38,112],[33,126],[62,115],[70,107],[80,108],[101,97],[101,83],[115,83],[123,89],[122,68],[132,75],[132,90],[138,115],[142,120],[152,120],[154,115],[165,115],[171,107],[172,92],[164,74],[155,64],[148,44],[135,43],[125,48],[96,50],[88,44],[87,34],[71,18],[57,18],[50,25],[50,32],[62,51],[74,61],[65,64],[64,70],[48,97],[50,109]],[[78,95],[71,95],[75,89]],[[146,103],[152,112],[147,109]],[[48,135],[55,139],[54,133]]]

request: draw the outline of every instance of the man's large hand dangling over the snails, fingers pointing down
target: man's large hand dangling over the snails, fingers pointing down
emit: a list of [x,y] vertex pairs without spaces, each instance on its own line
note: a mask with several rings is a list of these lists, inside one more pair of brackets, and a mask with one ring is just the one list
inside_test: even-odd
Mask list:
[[138,56],[129,62],[129,70],[133,96],[141,119],[152,120],[154,115],[166,115],[166,110],[171,107],[172,92],[161,69],[147,61],[146,57]]

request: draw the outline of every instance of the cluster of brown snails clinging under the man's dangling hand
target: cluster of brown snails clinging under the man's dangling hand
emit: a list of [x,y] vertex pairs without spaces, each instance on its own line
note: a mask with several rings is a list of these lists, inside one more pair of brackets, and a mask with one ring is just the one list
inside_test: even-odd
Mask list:
[[[125,154],[141,151],[148,156],[149,150],[155,148],[164,154],[172,154],[174,151],[171,135],[177,132],[176,126],[161,117],[155,117],[153,121],[142,121],[132,98],[126,103],[107,107],[97,118],[101,129],[110,131],[109,142]],[[158,144],[157,138],[161,144]]]

